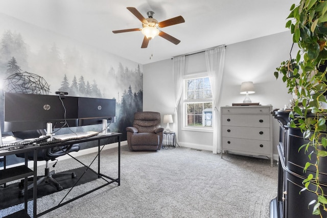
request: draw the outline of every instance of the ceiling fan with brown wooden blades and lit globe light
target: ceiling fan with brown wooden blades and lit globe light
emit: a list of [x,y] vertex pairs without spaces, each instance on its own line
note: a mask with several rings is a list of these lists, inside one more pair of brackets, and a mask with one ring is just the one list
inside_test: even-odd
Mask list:
[[133,32],[133,31],[141,31],[144,35],[144,39],[142,42],[142,49],[145,49],[148,47],[149,41],[153,39],[155,36],[159,35],[164,39],[167,39],[168,41],[178,44],[180,40],[176,39],[175,37],[159,31],[158,28],[164,28],[172,25],[176,25],[178,23],[185,22],[184,18],[182,16],[177,16],[170,18],[168,20],[164,20],[161,22],[158,22],[156,19],[153,18],[154,12],[148,11],[147,15],[148,18],[145,18],[141,13],[138,12],[136,8],[127,7],[127,9],[135,15],[139,20],[142,22],[143,28],[134,28],[134,29],[126,29],[126,30],[114,30],[113,33],[126,33],[126,32]]

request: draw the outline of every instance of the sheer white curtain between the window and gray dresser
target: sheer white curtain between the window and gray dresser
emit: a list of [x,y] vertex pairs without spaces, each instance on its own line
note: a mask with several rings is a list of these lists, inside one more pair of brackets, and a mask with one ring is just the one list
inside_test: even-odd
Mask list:
[[220,148],[220,105],[221,84],[225,59],[225,45],[205,51],[206,69],[209,75],[210,86],[213,94],[213,153],[217,154]]

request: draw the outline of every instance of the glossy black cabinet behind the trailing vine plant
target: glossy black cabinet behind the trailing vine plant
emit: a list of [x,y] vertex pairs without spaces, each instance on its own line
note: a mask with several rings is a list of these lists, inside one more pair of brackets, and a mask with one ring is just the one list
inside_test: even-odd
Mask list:
[[[299,148],[308,143],[303,139],[303,133],[299,129],[288,126],[289,112],[274,111],[274,117],[279,122],[279,143],[278,148],[278,186],[277,197],[270,202],[270,217],[274,218],[297,218],[297,217],[317,217],[312,214],[313,205],[309,206],[312,200],[317,199],[314,192],[302,191],[303,179],[309,174],[316,174],[314,167],[309,167],[306,172],[303,168],[309,161],[308,154]],[[312,155],[311,161],[315,161]],[[327,193],[327,157],[320,159],[319,182],[323,192]],[[310,188],[310,186],[309,186]],[[325,196],[326,197],[326,196]],[[322,217],[327,217],[327,212],[321,210]]]

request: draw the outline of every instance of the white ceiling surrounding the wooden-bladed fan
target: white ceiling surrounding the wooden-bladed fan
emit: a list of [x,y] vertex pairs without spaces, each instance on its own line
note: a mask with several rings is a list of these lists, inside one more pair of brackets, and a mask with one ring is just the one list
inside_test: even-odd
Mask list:
[[[147,64],[288,31],[285,23],[293,3],[295,0],[1,0],[0,13]],[[147,11],[154,11],[158,21],[183,16],[184,23],[160,29],[181,42],[175,45],[157,36],[147,49],[141,49],[141,32],[113,34],[112,30],[142,28],[126,7],[136,8],[146,18]]]

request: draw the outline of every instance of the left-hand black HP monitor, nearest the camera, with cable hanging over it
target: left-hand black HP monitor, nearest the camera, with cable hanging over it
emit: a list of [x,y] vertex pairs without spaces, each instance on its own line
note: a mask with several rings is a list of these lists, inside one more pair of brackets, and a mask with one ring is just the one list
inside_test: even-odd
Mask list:
[[[62,100],[62,102],[61,102]],[[78,126],[78,97],[5,92],[4,132]]]

